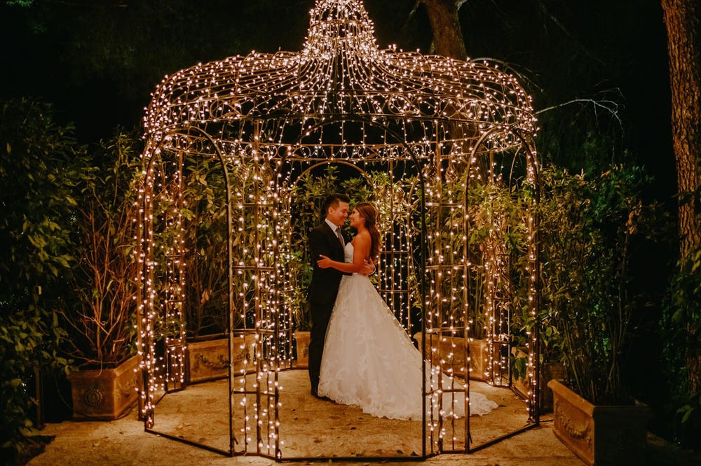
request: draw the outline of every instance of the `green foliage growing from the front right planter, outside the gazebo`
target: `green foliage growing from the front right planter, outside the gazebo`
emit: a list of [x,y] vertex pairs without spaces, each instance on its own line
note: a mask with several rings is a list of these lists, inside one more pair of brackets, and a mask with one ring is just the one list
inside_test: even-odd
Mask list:
[[580,395],[625,404],[621,367],[639,318],[629,263],[641,241],[660,232],[659,206],[641,201],[649,178],[625,165],[596,178],[552,166],[541,176],[541,318],[549,349],[562,350]]

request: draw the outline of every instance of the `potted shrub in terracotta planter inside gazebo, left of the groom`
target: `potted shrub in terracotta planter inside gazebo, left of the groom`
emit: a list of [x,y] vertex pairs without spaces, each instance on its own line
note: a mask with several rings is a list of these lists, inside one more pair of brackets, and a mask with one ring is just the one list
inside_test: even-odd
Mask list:
[[[187,160],[183,168],[186,322],[186,381],[197,383],[229,376],[229,264],[226,254],[226,182],[219,162]],[[234,233],[236,234],[236,233]],[[240,233],[239,233],[240,234]],[[234,238],[234,242],[240,238]],[[252,361],[254,334],[243,334],[244,319],[235,314],[233,367]],[[253,326],[251,326],[253,328]]]

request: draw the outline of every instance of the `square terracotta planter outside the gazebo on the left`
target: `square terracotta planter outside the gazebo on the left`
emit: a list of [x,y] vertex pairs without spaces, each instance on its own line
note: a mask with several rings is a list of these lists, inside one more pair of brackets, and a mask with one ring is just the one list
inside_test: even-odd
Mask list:
[[73,418],[111,421],[122,416],[137,402],[139,361],[139,356],[133,356],[114,369],[71,372]]

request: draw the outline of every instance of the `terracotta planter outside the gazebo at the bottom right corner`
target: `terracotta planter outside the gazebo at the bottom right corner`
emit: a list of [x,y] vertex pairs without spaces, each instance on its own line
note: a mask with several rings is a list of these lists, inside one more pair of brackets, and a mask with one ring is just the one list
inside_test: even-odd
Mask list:
[[645,405],[595,406],[563,383],[552,380],[555,436],[588,465],[645,463]]

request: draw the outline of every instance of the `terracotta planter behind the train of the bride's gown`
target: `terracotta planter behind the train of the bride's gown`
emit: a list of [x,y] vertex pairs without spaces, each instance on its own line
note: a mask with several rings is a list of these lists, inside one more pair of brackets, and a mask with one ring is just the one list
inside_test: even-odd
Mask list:
[[[418,348],[421,348],[423,339],[421,334],[414,334],[414,339],[418,341]],[[465,377],[465,339],[459,337],[446,338],[445,341],[439,341],[438,337],[432,340],[433,348],[429,347],[428,341],[426,341],[426,354],[430,354],[431,351],[439,350],[440,354],[447,357],[450,353],[453,353],[451,358],[447,359],[446,366],[444,369],[453,369],[453,374],[459,377]],[[455,348],[453,347],[455,345]],[[489,348],[485,340],[472,339],[468,342],[470,348],[470,379],[472,380],[486,380],[486,365],[488,364],[489,358],[487,358],[487,353]]]

